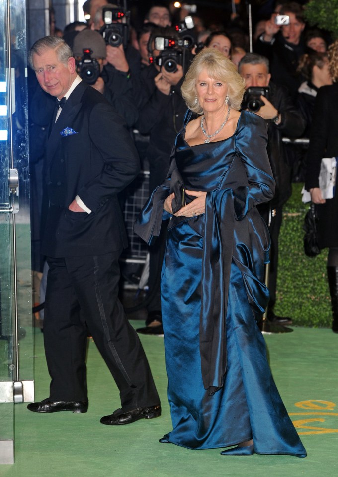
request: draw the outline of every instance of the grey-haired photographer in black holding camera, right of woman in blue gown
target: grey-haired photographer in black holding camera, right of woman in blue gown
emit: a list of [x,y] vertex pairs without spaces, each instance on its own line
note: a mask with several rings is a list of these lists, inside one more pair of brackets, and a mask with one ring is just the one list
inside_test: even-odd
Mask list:
[[[282,207],[291,195],[291,175],[285,162],[282,136],[299,137],[304,131],[305,119],[295,108],[287,90],[270,81],[271,75],[267,58],[247,53],[239,63],[238,72],[244,78],[247,90],[242,107],[254,111],[266,120],[268,128],[267,152],[276,181],[274,198],[266,205],[258,206],[271,235],[271,262],[268,278],[270,302],[267,317],[272,322],[288,325],[292,323],[290,318],[276,316],[273,311],[276,301],[278,236],[282,223]],[[250,93],[253,87],[259,87],[259,91],[262,91],[265,96],[259,92]]]

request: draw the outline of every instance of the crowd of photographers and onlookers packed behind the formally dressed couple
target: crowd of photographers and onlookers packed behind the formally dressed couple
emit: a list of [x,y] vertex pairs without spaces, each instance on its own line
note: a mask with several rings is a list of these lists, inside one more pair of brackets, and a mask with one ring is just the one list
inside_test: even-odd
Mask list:
[[[258,107],[252,111],[268,123],[269,158],[277,183],[275,198],[261,211],[272,237],[268,318],[290,324],[290,318],[277,317],[273,312],[278,234],[291,181],[304,180],[306,153],[286,147],[282,138],[309,136],[318,89],[332,84],[327,53],[330,35],[307,25],[304,2],[267,2],[270,11],[266,10],[264,17],[255,12],[252,38],[245,9],[229,15],[226,24],[217,18],[204,23],[198,9],[194,11],[190,4],[173,12],[164,3],[154,4],[140,21],[135,10],[129,17],[129,12],[107,0],[87,0],[83,5],[87,23],[76,21],[60,31],[53,20],[51,34],[63,36],[73,50],[79,74],[124,118],[143,167],[149,168],[150,190],[162,183],[169,169],[171,149],[187,109],[180,86],[193,55],[202,48],[216,48],[238,67],[247,90],[263,89]],[[253,52],[249,51],[251,43]],[[54,102],[36,86],[32,75],[32,197],[36,215],[43,217],[41,163]],[[165,237],[150,249],[146,333],[161,333],[162,329],[159,274],[164,246]],[[35,269],[39,269],[38,264]]]

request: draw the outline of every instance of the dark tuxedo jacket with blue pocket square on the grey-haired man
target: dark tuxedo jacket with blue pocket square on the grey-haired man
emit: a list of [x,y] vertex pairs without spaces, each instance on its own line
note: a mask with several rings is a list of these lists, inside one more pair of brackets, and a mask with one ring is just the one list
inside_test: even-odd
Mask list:
[[[125,247],[117,194],[139,170],[137,151],[124,120],[100,93],[81,82],[68,98],[47,143],[45,177],[50,206],[43,254],[98,255]],[[68,209],[76,195],[90,214]]]

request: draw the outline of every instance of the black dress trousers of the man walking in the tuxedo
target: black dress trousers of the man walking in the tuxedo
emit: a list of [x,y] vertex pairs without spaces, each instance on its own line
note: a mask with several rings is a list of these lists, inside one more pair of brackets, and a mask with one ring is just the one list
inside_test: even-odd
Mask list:
[[88,399],[88,327],[118,386],[122,409],[160,403],[139,337],[117,296],[119,255],[47,258],[44,342],[52,401]]

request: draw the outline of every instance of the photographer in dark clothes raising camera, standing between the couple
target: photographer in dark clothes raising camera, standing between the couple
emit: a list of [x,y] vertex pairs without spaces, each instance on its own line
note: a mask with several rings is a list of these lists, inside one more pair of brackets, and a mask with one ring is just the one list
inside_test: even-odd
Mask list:
[[[160,41],[157,41],[157,38]],[[173,40],[175,44],[173,45]],[[191,52],[176,47],[180,37],[175,29],[158,28],[153,31],[149,50],[152,64],[142,70],[142,98],[139,107],[137,129],[141,134],[149,134],[147,158],[150,170],[150,190],[154,190],[167,176],[172,144],[183,124],[186,105],[182,99],[180,87],[184,72],[190,62]],[[168,43],[162,51],[155,48],[157,43]],[[172,46],[169,46],[170,45]],[[157,45],[159,46],[159,45]],[[182,64],[179,64],[179,63]],[[168,71],[169,70],[169,71]],[[138,329],[139,333],[161,335],[162,315],[160,296],[160,272],[166,241],[166,227],[163,226],[160,237],[151,246],[149,270],[148,319],[146,327]]]

